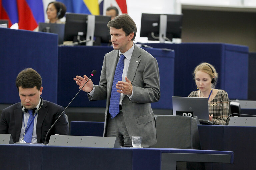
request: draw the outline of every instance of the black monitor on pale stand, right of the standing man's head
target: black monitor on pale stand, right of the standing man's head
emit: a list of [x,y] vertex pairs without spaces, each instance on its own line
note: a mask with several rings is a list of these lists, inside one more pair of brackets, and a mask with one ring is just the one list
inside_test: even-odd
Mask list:
[[181,38],[183,14],[141,14],[140,37],[160,43]]

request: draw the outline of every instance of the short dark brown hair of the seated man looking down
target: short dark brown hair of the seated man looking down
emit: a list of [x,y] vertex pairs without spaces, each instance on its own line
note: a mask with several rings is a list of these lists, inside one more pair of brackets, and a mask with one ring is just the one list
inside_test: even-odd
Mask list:
[[18,88],[18,91],[19,87],[25,89],[34,88],[35,86],[38,90],[40,90],[42,86],[42,77],[40,74],[38,74],[38,72],[36,72],[36,70],[26,68],[18,74],[16,78],[16,87]]

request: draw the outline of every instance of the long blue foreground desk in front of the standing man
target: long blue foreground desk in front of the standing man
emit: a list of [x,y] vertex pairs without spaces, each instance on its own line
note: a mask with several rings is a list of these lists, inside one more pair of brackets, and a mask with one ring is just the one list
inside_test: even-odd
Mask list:
[[233,163],[233,152],[212,150],[89,148],[38,144],[0,145],[0,149],[1,170],[161,170],[163,153],[189,154],[190,157],[191,154],[226,155],[229,158],[226,163]]

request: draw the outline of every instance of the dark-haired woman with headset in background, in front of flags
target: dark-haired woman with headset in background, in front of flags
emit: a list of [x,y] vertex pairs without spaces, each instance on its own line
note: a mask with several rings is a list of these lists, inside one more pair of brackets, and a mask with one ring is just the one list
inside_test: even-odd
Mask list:
[[47,17],[49,19],[49,23],[57,23],[61,24],[60,19],[65,16],[66,6],[62,2],[53,1],[48,4],[46,9]]

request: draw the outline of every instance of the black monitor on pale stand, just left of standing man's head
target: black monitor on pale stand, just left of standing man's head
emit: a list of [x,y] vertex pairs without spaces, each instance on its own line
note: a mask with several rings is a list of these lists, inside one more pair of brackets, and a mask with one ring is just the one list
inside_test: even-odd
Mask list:
[[110,16],[66,13],[64,40],[86,42],[87,46],[101,45],[110,40],[107,23]]

